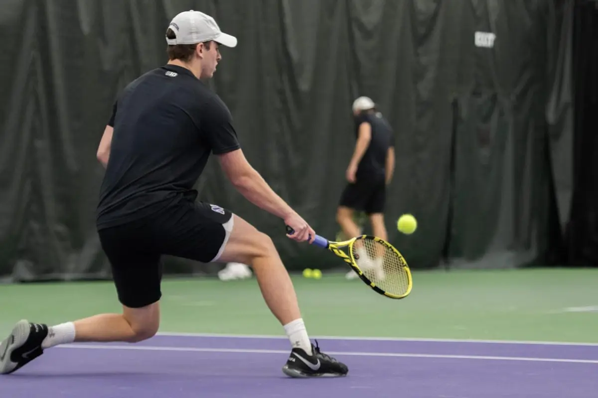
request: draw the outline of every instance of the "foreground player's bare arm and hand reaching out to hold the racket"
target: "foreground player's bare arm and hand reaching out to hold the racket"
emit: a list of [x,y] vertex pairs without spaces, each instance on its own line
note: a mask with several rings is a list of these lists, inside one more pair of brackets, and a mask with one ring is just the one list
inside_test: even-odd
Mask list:
[[218,159],[228,180],[246,199],[285,220],[295,230],[293,239],[313,242],[315,232],[312,227],[271,189],[260,173],[249,164],[241,149],[219,155]]

